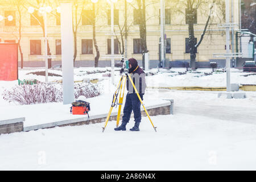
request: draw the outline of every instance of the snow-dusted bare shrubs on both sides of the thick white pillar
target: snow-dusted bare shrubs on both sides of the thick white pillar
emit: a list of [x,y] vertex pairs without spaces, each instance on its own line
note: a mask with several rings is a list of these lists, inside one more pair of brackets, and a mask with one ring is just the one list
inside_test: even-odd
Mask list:
[[[96,97],[101,94],[100,84],[75,83],[75,98],[85,96]],[[16,85],[5,89],[3,99],[20,105],[62,102],[63,88],[61,84],[40,83],[35,85]]]

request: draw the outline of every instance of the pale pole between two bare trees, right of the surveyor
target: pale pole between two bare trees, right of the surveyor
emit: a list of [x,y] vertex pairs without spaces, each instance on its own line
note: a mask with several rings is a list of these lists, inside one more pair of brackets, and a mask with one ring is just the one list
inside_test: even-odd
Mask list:
[[164,64],[164,0],[160,0],[160,28],[161,28],[161,61],[163,67],[166,65]]

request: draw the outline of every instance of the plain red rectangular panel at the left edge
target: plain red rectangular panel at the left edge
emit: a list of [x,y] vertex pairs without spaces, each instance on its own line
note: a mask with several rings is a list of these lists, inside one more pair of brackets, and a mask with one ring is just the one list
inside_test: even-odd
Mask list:
[[18,44],[0,43],[0,80],[18,80]]

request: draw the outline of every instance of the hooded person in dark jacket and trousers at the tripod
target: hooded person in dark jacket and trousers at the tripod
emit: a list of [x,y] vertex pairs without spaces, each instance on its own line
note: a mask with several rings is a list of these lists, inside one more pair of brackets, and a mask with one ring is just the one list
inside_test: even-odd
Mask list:
[[[122,73],[123,69],[121,69]],[[139,96],[143,100],[143,95],[146,90],[146,78],[143,69],[138,66],[138,62],[136,59],[129,59],[129,73],[131,78],[133,79],[134,85],[139,92]],[[131,111],[134,113],[134,121],[135,125],[131,131],[139,131],[139,124],[141,123],[141,101],[133,88],[133,84],[131,84],[129,77],[127,77],[127,90],[128,93],[126,95],[125,107],[123,108],[123,117],[121,126],[115,128],[115,131],[125,131],[126,125],[130,120]]]

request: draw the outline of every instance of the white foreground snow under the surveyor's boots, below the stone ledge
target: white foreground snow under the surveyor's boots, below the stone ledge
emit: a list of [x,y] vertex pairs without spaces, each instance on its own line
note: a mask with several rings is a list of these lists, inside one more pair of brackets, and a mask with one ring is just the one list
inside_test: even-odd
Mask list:
[[[109,122],[0,137],[0,169],[255,170],[256,125],[187,114],[146,117],[141,131]],[[133,122],[127,125],[127,129]]]

